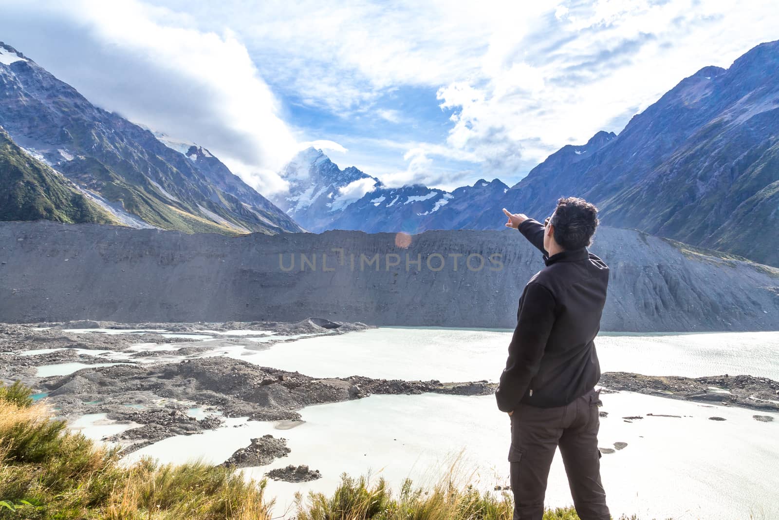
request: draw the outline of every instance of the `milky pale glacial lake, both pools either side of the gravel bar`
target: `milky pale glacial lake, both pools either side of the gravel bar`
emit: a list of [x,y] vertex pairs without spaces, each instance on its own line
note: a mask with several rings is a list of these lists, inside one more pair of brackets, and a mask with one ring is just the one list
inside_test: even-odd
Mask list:
[[[496,380],[510,338],[511,331],[382,327],[275,345],[257,342],[256,348],[263,350],[220,345],[204,355],[231,356],[315,377]],[[208,343],[203,341],[203,346]],[[779,332],[605,333],[596,345],[604,372],[688,377],[749,373],[779,380]],[[600,446],[628,444],[601,458],[612,515],[636,514],[642,520],[779,518],[779,414],[631,392],[601,397],[608,417],[601,419]],[[773,416],[774,422],[754,420],[758,413]],[[435,482],[453,464],[464,480],[483,490],[508,480],[509,419],[495,408],[493,396],[373,395],[309,406],[301,415],[305,423],[291,430],[277,429],[275,423],[227,419],[218,430],[171,437],[127,460],[150,455],[162,462],[203,458],[218,464],[254,437],[284,437],[291,454],[245,469],[245,475],[262,478],[273,468],[306,464],[319,469],[323,478],[310,483],[269,480],[266,489],[269,497],[277,498],[276,515],[291,507],[296,491],[332,492],[342,472],[371,472],[396,489],[405,477],[419,485]],[[643,419],[626,423],[624,416]],[[712,416],[726,420],[708,419]],[[79,426],[90,430],[88,424]],[[101,420],[96,426],[110,425]],[[559,455],[546,503],[572,503]]]

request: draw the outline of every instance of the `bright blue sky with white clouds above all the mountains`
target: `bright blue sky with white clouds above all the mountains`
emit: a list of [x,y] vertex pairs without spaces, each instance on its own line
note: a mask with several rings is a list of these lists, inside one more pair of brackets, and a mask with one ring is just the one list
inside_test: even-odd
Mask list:
[[312,142],[390,186],[511,186],[777,27],[774,0],[5,0],[0,41],[270,194]]

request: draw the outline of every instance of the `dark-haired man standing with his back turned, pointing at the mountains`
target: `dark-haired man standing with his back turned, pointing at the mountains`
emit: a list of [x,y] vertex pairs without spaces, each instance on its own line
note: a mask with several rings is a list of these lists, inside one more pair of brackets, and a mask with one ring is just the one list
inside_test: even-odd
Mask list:
[[527,282],[516,313],[509,359],[495,397],[511,420],[509,465],[514,520],[541,520],[549,467],[559,446],[576,513],[609,520],[601,485],[597,405],[601,377],[594,338],[601,327],[608,266],[587,251],[597,208],[561,198],[542,225],[512,214],[519,229],[544,253],[546,267]]

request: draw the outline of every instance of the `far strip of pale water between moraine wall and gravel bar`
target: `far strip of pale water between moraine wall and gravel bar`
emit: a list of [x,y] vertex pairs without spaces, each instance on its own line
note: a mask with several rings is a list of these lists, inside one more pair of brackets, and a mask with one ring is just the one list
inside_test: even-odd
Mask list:
[[[315,377],[495,381],[505,366],[510,331],[381,327],[270,345],[227,356]],[[728,373],[779,380],[779,332],[601,334],[601,370],[702,377]]]

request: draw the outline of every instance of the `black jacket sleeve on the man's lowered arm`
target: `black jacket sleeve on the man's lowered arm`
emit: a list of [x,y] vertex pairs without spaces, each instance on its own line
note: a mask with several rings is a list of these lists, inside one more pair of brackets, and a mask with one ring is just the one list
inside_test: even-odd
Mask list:
[[498,409],[511,412],[530,389],[538,373],[546,342],[555,323],[555,297],[543,285],[530,282],[520,299],[509,359],[495,391]]

